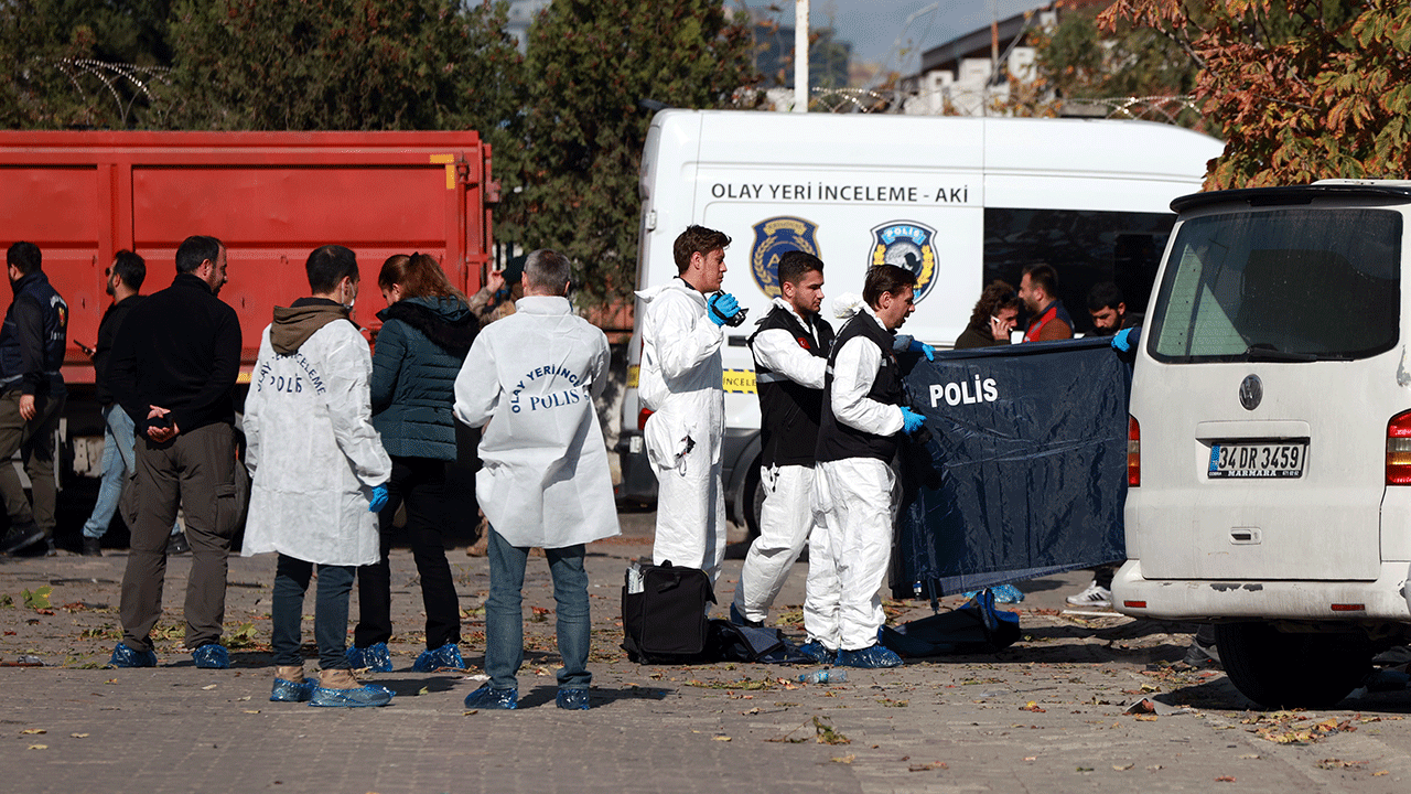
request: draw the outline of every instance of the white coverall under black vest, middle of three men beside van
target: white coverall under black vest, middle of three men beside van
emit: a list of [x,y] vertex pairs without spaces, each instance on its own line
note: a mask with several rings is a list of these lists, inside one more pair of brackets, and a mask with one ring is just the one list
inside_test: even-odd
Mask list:
[[[813,328],[813,324],[799,316],[783,298],[775,298],[775,305],[789,311],[804,329]],[[813,336],[810,342],[817,345],[817,333]],[[756,369],[762,365],[773,370],[775,376],[787,377],[807,389],[823,390],[828,359],[801,348],[789,331],[766,328],[755,335],[751,348]],[[746,620],[763,623],[769,617],[769,606],[789,579],[789,571],[799,559],[803,545],[809,543],[814,527],[813,476],[813,466],[775,465],[762,466],[759,470],[759,480],[765,489],[765,503],[759,509],[759,537],[745,555],[745,567],[735,588],[735,609]],[[811,582],[817,568],[820,567],[809,567],[810,585],[806,598],[811,598],[814,589]],[[804,622],[809,620],[809,613],[806,603]]]

